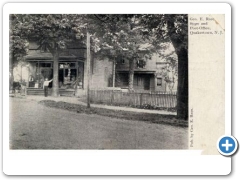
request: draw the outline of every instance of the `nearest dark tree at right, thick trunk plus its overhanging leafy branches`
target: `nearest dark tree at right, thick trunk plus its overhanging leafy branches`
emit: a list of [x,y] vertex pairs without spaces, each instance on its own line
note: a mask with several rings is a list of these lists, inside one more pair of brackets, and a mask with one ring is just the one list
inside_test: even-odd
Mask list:
[[142,24],[155,44],[171,41],[178,56],[177,116],[188,119],[188,15],[154,14],[143,16]]

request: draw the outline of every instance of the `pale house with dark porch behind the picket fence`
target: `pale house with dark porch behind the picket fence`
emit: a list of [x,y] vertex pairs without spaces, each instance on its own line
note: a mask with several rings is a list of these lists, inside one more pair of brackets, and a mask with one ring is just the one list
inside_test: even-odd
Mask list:
[[[134,67],[133,88],[136,92],[148,91],[176,91],[177,82],[169,84],[166,75],[173,80],[172,72],[169,72],[169,64],[154,54],[148,60],[136,60]],[[116,87],[128,88],[129,61],[123,57],[117,59],[116,64]]]

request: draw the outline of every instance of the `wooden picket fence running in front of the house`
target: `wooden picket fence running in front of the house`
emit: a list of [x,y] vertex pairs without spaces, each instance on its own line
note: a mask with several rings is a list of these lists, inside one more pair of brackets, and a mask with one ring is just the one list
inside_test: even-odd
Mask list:
[[93,103],[103,103],[119,106],[175,108],[176,92],[122,92],[114,90],[91,90],[90,100]]

